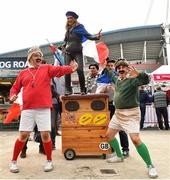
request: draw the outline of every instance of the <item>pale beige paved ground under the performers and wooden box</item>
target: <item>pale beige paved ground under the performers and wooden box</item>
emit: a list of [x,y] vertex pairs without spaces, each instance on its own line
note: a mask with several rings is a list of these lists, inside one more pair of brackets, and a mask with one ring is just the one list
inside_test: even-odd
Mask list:
[[[130,157],[123,163],[109,164],[101,157],[77,157],[68,161],[61,154],[61,137],[56,137],[53,151],[55,168],[43,172],[45,156],[38,153],[38,144],[29,141],[26,159],[18,160],[20,173],[9,172],[16,131],[0,132],[0,179],[148,179],[145,164],[130,142]],[[142,140],[147,144],[159,178],[170,179],[170,131],[143,130]],[[114,170],[116,174],[102,174],[101,170]]]

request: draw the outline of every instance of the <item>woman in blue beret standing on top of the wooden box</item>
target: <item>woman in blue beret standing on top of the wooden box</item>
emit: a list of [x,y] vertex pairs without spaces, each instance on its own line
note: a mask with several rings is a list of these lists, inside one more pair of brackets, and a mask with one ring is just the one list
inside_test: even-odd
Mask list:
[[[64,44],[60,47],[65,53],[65,65],[70,64],[71,61],[75,60],[78,63],[78,77],[80,82],[81,94],[86,93],[85,88],[85,76],[83,70],[83,53],[82,53],[82,42],[86,39],[99,40],[102,37],[101,31],[97,35],[91,35],[84,28],[84,25],[80,24],[77,19],[78,15],[73,11],[66,13],[66,33],[64,38]],[[65,94],[72,94],[71,88],[71,76],[65,76]]]

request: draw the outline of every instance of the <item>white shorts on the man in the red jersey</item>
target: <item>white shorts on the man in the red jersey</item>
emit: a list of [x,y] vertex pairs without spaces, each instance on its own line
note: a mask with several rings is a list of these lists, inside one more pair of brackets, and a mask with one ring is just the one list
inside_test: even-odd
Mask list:
[[51,109],[28,109],[21,112],[19,131],[33,131],[37,125],[38,131],[51,131]]

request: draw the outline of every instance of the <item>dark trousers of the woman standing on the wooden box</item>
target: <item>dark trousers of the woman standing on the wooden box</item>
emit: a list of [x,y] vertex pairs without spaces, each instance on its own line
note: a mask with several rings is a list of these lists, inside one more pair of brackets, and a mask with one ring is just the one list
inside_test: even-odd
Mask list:
[[[79,77],[80,90],[81,92],[85,92],[85,76],[83,70],[83,54],[82,52],[76,53],[65,53],[65,65],[69,65],[72,60],[75,60],[78,63],[77,74]],[[66,92],[72,92],[71,87],[71,74],[65,75],[65,88]]]

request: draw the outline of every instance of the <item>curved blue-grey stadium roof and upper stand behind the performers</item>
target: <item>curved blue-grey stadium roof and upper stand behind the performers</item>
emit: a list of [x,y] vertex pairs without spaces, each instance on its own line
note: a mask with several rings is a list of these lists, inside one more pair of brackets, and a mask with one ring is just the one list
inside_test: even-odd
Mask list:
[[[162,24],[131,27],[103,32],[101,39],[108,48],[111,58],[124,57],[132,63],[166,64],[164,29]],[[99,41],[98,41],[99,42]],[[61,44],[62,42],[54,42]],[[41,45],[47,62],[53,62],[49,44]],[[27,56],[28,49],[0,54],[0,57]],[[90,61],[89,61],[90,63]]]

